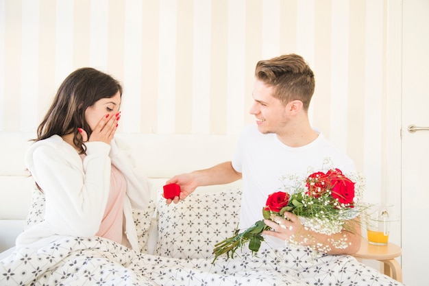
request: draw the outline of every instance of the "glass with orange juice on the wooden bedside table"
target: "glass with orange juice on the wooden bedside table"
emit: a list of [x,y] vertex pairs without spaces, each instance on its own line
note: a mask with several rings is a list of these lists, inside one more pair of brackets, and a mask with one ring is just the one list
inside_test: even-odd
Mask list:
[[366,210],[368,242],[376,246],[385,246],[389,241],[391,208],[389,205],[370,206]]

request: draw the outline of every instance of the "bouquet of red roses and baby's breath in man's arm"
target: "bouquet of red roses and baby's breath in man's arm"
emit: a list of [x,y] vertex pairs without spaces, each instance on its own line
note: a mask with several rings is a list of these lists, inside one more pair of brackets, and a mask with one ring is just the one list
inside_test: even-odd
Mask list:
[[[271,193],[266,206],[262,208],[262,215],[265,219],[271,219],[271,214],[283,217],[287,211],[303,218],[302,224],[317,233],[339,233],[345,221],[357,217],[360,212],[356,202],[362,193],[363,184],[359,184],[355,190],[355,183],[339,169],[329,169],[326,173],[314,172],[304,182],[297,183],[292,195],[283,191]],[[235,230],[232,237],[215,244],[212,252],[215,259],[212,263],[222,254],[226,254],[227,259],[234,257],[236,250],[246,243],[249,243],[249,250],[258,252],[264,241],[262,231],[270,229],[264,220],[260,220],[242,233]],[[337,245],[339,248],[347,247],[341,246],[341,243]]]

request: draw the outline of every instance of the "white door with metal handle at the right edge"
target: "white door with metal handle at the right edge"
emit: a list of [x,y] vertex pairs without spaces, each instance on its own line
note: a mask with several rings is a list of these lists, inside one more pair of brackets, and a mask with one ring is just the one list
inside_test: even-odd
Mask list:
[[427,286],[429,0],[403,0],[402,8],[402,270],[406,285]]

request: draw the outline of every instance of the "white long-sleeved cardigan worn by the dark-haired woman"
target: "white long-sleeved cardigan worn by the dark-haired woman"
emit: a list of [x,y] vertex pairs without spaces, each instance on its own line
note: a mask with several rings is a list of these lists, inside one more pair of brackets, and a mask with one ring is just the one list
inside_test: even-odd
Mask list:
[[110,191],[111,164],[125,176],[127,192],[123,212],[125,234],[134,250],[138,239],[132,208],[146,209],[151,184],[134,169],[123,142],[87,142],[83,160],[58,135],[37,141],[25,154],[25,164],[45,192],[45,221],[25,230],[16,239],[16,248],[39,248],[60,236],[92,237],[99,230]]

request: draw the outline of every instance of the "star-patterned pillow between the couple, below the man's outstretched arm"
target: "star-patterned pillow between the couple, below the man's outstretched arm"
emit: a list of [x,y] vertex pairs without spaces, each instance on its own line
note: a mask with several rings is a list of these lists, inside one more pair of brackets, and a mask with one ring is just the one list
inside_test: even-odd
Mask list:
[[158,241],[155,254],[182,259],[212,258],[216,243],[238,227],[241,189],[193,193],[166,204],[158,192]]

